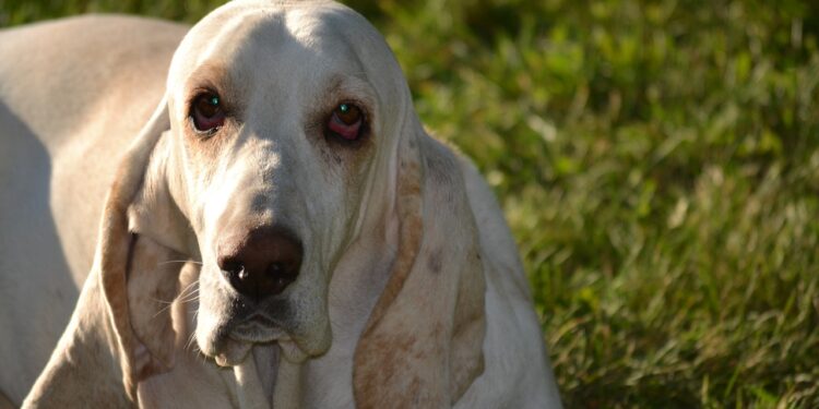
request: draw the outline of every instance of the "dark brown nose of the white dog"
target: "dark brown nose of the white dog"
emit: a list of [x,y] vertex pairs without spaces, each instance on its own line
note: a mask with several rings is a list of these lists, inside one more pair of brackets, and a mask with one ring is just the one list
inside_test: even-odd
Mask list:
[[301,242],[281,227],[262,227],[225,238],[218,266],[240,293],[257,301],[282,292],[301,267]]

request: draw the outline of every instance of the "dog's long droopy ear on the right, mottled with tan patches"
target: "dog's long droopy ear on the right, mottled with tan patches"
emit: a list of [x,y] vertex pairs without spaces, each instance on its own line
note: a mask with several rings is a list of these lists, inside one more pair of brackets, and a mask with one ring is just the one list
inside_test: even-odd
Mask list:
[[358,408],[450,407],[484,370],[484,269],[460,166],[420,129],[404,136],[399,253],[356,348]]

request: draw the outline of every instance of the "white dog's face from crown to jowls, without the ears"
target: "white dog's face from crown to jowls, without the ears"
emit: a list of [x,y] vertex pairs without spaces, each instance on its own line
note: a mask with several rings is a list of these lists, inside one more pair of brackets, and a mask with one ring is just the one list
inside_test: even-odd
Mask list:
[[201,255],[195,338],[217,363],[253,342],[329,348],[328,284],[388,178],[396,75],[375,29],[335,4],[228,4],[180,45],[167,178]]

